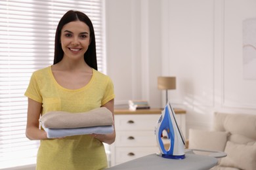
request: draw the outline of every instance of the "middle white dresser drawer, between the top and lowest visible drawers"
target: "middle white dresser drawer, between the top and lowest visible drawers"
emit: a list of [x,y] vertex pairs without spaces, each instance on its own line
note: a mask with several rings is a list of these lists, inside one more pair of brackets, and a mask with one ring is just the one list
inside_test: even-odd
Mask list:
[[116,131],[116,146],[156,146],[154,131]]

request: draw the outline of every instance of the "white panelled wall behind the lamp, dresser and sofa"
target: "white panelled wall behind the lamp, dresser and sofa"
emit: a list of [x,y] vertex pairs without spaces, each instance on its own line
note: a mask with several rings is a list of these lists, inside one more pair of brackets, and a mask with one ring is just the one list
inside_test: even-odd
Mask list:
[[106,1],[116,107],[129,99],[162,107],[157,76],[168,75],[177,76],[169,99],[187,110],[187,130],[210,129],[215,111],[256,114],[256,80],[244,79],[242,56],[242,21],[255,9],[253,0]]

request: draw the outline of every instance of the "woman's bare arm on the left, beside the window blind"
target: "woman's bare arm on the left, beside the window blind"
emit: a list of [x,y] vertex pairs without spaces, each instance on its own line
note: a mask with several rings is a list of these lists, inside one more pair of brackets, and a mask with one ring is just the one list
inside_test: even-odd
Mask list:
[[26,126],[26,137],[30,140],[47,139],[47,133],[39,129],[39,118],[42,103],[28,98],[28,116]]

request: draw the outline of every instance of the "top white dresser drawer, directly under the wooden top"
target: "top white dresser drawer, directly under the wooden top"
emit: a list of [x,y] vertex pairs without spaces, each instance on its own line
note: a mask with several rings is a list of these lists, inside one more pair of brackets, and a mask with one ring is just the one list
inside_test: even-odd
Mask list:
[[154,115],[150,115],[150,116],[140,115],[140,114],[115,115],[116,131],[119,131],[119,130],[154,131],[159,118],[160,118],[160,114],[154,114]]

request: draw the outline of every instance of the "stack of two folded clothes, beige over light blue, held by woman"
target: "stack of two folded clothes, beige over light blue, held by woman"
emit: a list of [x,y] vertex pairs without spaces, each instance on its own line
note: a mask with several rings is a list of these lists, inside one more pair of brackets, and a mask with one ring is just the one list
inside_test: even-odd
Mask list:
[[68,137],[85,134],[113,133],[112,112],[106,107],[88,112],[70,113],[62,111],[47,112],[39,119],[48,138]]

